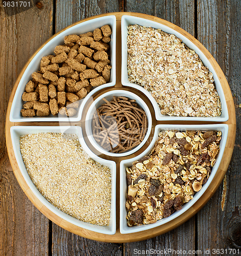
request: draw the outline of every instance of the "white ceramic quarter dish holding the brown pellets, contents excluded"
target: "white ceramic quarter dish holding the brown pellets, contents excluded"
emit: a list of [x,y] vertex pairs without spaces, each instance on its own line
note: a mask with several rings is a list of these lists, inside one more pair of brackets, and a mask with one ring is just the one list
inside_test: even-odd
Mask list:
[[[52,114],[47,117],[22,117],[20,115],[20,110],[22,109],[23,101],[21,99],[22,93],[25,91],[25,86],[29,80],[32,79],[32,73],[37,72],[40,69],[40,61],[43,56],[49,54],[54,54],[54,49],[57,45],[64,44],[64,37],[70,34],[83,34],[88,31],[93,31],[96,28],[101,28],[102,26],[108,24],[112,29],[111,41],[110,41],[110,59],[112,66],[110,81],[103,86],[95,88],[87,96],[81,100],[81,106],[77,114],[73,117],[64,117],[61,115],[53,116]],[[11,122],[40,122],[40,121],[79,121],[82,116],[83,106],[96,91],[101,90],[102,88],[110,87],[115,85],[116,79],[116,17],[114,15],[109,15],[105,17],[93,18],[87,20],[86,22],[70,25],[67,29],[61,30],[57,34],[53,35],[49,40],[47,40],[34,55],[31,57],[29,65],[27,66],[25,72],[23,73],[10,111],[10,121]]]

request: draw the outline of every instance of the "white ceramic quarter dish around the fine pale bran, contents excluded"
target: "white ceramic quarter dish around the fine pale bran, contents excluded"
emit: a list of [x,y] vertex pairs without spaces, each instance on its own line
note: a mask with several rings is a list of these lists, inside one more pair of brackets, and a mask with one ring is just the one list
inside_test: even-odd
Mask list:
[[[39,190],[35,187],[31,178],[28,175],[25,164],[23,163],[21,153],[20,153],[20,144],[19,138],[21,135],[26,134],[35,134],[35,133],[65,133],[65,134],[76,134],[80,140],[80,143],[84,149],[84,151],[95,161],[108,166],[111,169],[111,216],[110,216],[110,224],[108,226],[99,226],[94,224],[89,224],[83,221],[80,221],[70,215],[65,214],[63,211],[59,210],[55,206],[53,206],[49,201],[47,201]],[[59,216],[60,218],[68,221],[76,226],[99,232],[104,234],[114,234],[116,232],[116,209],[115,209],[115,201],[116,201],[116,164],[114,161],[103,160],[98,156],[95,156],[85,144],[82,137],[82,130],[79,126],[12,126],[10,129],[11,139],[13,143],[13,150],[17,160],[17,164],[21,171],[21,174],[28,186],[34,193],[34,195],[54,214]]]

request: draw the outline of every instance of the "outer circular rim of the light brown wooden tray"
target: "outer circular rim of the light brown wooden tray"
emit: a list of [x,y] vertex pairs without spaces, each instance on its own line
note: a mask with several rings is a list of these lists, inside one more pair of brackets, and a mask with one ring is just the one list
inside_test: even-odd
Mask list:
[[[123,12],[123,13],[101,14],[101,15],[89,17],[89,18],[83,19],[83,20],[81,20],[77,23],[71,24],[70,26],[68,26],[68,27],[64,28],[63,30],[59,31],[57,34],[61,33],[62,31],[64,31],[65,29],[67,29],[71,26],[74,26],[76,24],[85,22],[86,20],[97,18],[97,17],[102,17],[102,16],[106,16],[106,15],[116,15],[116,18],[118,18],[118,20],[120,20],[123,15],[133,15],[133,16],[140,15],[140,17],[151,19],[151,20],[154,20],[156,22],[163,23],[164,25],[167,24],[167,26],[172,26],[172,28],[174,28],[174,29],[179,28],[176,25],[167,22],[166,20],[151,16],[151,15]],[[181,31],[184,33],[185,36],[186,36],[186,34],[188,34],[186,31],[184,31],[182,29],[181,29]],[[54,36],[56,36],[57,34],[55,34]],[[189,36],[191,36],[191,35],[188,34],[188,37]],[[49,38],[49,40],[51,40],[52,38],[53,38],[53,36],[51,38]],[[201,44],[196,38],[194,38],[194,39],[199,44]],[[49,40],[47,40],[46,42],[48,42]],[[21,183],[19,183],[19,184],[22,187],[23,191],[25,191],[26,195],[31,200],[31,202],[35,206],[37,205],[36,207],[47,218],[49,218],[51,221],[53,221],[57,225],[61,226],[62,228],[65,228],[66,230],[68,230],[70,232],[73,232],[73,233],[76,233],[79,236],[85,237],[87,239],[97,240],[97,241],[101,241],[101,242],[114,242],[114,243],[134,242],[134,241],[141,241],[141,240],[144,240],[144,239],[153,238],[153,237],[158,236],[162,233],[168,232],[168,231],[172,230],[173,228],[176,228],[177,226],[181,225],[182,223],[187,221],[189,218],[194,216],[206,204],[206,202],[211,198],[211,196],[215,193],[215,190],[218,188],[219,184],[223,180],[223,177],[224,177],[224,175],[227,171],[229,162],[231,160],[233,147],[234,147],[234,140],[235,140],[235,136],[233,136],[233,134],[235,134],[235,129],[236,129],[235,108],[234,108],[234,103],[233,103],[233,99],[232,99],[232,94],[231,94],[230,88],[228,86],[228,82],[227,82],[221,68],[218,66],[218,63],[216,63],[215,59],[208,52],[208,50],[206,48],[204,50],[202,48],[204,46],[201,45],[201,49],[203,49],[203,51],[206,52],[206,54],[207,54],[206,57],[208,57],[209,61],[213,61],[212,63],[215,63],[215,67],[217,67],[217,69],[219,71],[219,74],[220,74],[220,77],[223,79],[222,81],[224,83],[225,90],[227,90],[226,91],[227,93],[225,94],[225,98],[226,98],[226,102],[227,102],[227,105],[228,105],[229,120],[226,123],[229,125],[229,135],[231,135],[231,140],[226,142],[226,147],[227,147],[226,150],[229,151],[228,157],[226,155],[226,158],[224,160],[225,162],[223,163],[224,166],[222,166],[222,168],[221,168],[221,164],[220,164],[220,167],[219,167],[220,172],[222,173],[222,175],[220,175],[218,177],[218,179],[216,180],[215,185],[213,184],[213,187],[211,186],[205,191],[205,193],[204,193],[205,197],[204,197],[204,195],[201,197],[202,198],[202,203],[200,205],[198,205],[197,203],[198,202],[200,203],[201,201],[198,201],[197,203],[195,203],[194,206],[190,207],[186,212],[184,212],[184,214],[186,213],[186,215],[188,214],[188,216],[183,214],[182,218],[181,217],[176,218],[175,221],[172,223],[172,225],[170,225],[169,223],[166,223],[166,224],[161,225],[161,226],[159,226],[155,229],[149,229],[149,230],[145,230],[145,231],[141,231],[141,232],[137,232],[137,233],[121,234],[121,233],[117,232],[114,235],[106,235],[106,234],[102,234],[102,233],[89,231],[89,230],[86,230],[86,229],[82,230],[80,227],[75,226],[74,224],[71,224],[71,223],[68,223],[68,222],[66,223],[65,220],[56,216],[55,214],[53,214],[53,212],[50,212],[44,205],[41,205],[39,202],[37,202],[37,200],[36,200],[35,196],[33,195],[32,191],[30,191],[30,188],[28,187],[26,181],[21,176],[20,169],[18,168],[16,159],[15,159],[15,156],[14,156],[14,153],[13,153],[12,141],[11,141],[11,136],[10,136],[10,127],[15,125],[15,123],[11,123],[9,121],[9,115],[10,115],[10,109],[11,109],[12,101],[13,101],[13,98],[14,98],[14,94],[16,92],[16,89],[17,89],[18,83],[20,81],[20,78],[21,78],[23,72],[25,72],[27,66],[29,65],[29,62],[36,55],[36,53],[46,44],[46,42],[32,55],[32,57],[29,59],[29,61],[26,63],[25,67],[23,67],[22,71],[20,72],[19,76],[17,77],[17,80],[16,80],[16,82],[14,84],[14,87],[13,87],[13,91],[12,91],[11,96],[10,96],[8,109],[7,109],[7,115],[6,115],[6,144],[7,144],[10,163],[12,165],[12,168],[13,168],[13,171],[14,171],[14,174],[15,174],[17,180],[19,180],[20,182],[23,182],[22,184]],[[223,83],[221,83],[222,86],[223,86]],[[223,90],[224,90],[224,88],[223,88]],[[29,125],[31,125],[31,123],[29,123]],[[228,146],[227,146],[227,143],[228,143]],[[167,224],[169,224],[169,226]],[[117,227],[116,230],[119,231],[118,227]]]

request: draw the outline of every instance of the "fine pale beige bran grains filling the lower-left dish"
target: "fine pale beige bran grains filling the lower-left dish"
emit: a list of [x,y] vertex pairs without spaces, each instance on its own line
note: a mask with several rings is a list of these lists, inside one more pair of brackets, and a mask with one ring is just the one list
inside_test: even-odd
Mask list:
[[85,153],[77,135],[23,135],[20,151],[31,180],[51,204],[78,220],[109,225],[110,169]]

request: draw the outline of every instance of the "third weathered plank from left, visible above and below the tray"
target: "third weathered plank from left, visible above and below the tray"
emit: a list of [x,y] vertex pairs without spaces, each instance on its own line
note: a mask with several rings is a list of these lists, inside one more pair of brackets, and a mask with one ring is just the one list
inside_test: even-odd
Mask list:
[[[125,11],[146,13],[180,26],[194,35],[194,1],[138,1],[138,4],[127,0]],[[134,249],[157,251],[163,249],[194,250],[195,249],[195,218],[162,236],[146,241],[124,244],[124,255],[133,255]],[[146,254],[144,254],[146,255]],[[147,255],[149,255],[147,253]],[[159,254],[157,254],[159,255]],[[160,254],[161,255],[161,254]],[[164,254],[163,254],[164,255]],[[168,252],[165,255],[175,255]]]

